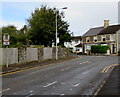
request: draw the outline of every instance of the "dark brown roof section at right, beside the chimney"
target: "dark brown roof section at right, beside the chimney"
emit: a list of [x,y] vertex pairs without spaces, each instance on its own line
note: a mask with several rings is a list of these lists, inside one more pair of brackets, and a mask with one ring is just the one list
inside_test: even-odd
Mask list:
[[103,29],[98,35],[115,34],[118,30],[120,30],[120,25],[108,26],[107,28]]

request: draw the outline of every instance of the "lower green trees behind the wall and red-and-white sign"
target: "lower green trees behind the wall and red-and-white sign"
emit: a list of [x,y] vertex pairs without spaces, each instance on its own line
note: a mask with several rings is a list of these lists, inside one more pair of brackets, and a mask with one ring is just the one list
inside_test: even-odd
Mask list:
[[[24,33],[26,31],[26,33]],[[17,30],[14,25],[2,27],[2,34],[8,33],[10,35],[10,47],[23,47],[28,43],[28,33],[25,28]]]

